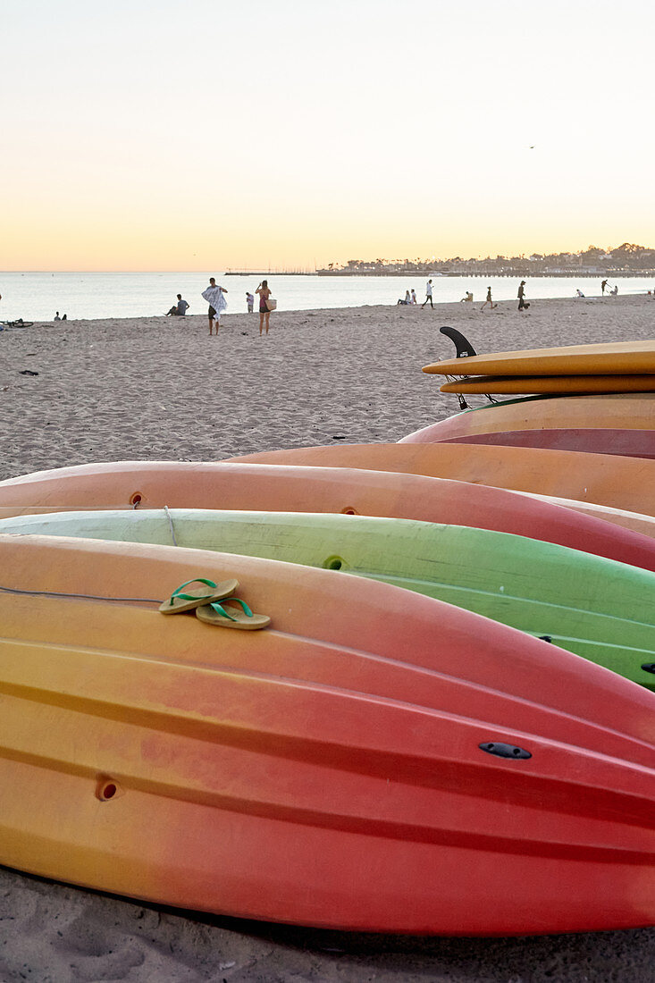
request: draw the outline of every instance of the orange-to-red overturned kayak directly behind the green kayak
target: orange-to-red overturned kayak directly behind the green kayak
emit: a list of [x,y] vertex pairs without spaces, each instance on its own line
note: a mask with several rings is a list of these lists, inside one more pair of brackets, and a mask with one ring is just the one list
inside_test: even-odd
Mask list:
[[[438,446],[438,445],[435,445]],[[357,456],[361,467],[296,467],[292,464],[123,461],[36,472],[0,482],[0,517],[79,509],[223,508],[290,512],[342,512],[473,526],[582,549],[655,570],[652,530],[615,528],[604,513],[580,515],[569,507],[501,488],[419,474],[389,473],[379,455],[399,470],[419,467],[431,445],[356,445],[280,451],[282,455]],[[448,448],[446,448],[448,449]],[[462,448],[459,448],[461,454]],[[468,451],[468,449],[466,448]],[[325,454],[323,453],[325,452]],[[470,453],[470,451],[469,451]],[[414,463],[407,458],[410,454]],[[279,458],[273,455],[274,460]],[[378,471],[366,470],[369,467]],[[387,464],[392,464],[387,455]],[[585,506],[586,507],[586,506]]]

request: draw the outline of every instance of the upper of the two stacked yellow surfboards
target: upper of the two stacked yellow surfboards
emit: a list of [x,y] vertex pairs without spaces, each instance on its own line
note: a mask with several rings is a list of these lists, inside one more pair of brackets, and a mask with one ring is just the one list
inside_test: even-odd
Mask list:
[[471,355],[434,362],[436,376],[623,376],[655,373],[655,341],[624,341],[563,348]]

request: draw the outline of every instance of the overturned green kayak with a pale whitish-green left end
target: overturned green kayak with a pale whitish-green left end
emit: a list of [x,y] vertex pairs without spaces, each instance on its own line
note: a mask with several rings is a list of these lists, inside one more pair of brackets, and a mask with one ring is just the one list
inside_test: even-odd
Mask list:
[[215,549],[372,577],[655,689],[655,573],[541,540],[410,519],[167,508],[21,516],[0,533]]

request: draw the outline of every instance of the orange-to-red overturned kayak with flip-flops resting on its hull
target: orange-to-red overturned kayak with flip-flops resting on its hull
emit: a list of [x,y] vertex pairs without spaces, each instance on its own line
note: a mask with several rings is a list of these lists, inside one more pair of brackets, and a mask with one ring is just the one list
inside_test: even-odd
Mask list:
[[[3,864],[338,929],[655,923],[655,698],[621,676],[328,570],[39,536],[0,567]],[[158,613],[198,576],[270,627]]]

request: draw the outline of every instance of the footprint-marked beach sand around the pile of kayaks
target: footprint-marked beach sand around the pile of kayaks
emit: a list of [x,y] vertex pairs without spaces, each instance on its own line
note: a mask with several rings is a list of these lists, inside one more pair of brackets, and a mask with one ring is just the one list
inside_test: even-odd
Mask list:
[[[279,311],[262,338],[259,316],[245,314],[227,314],[218,337],[199,317],[0,332],[0,479],[93,461],[397,440],[457,411],[438,376],[421,373],[453,354],[442,324],[481,353],[655,334],[650,297],[540,301],[521,315],[514,302],[479,307]],[[640,983],[653,980],[654,962],[648,929],[503,940],[352,935],[158,909],[0,868],[0,983]]]

